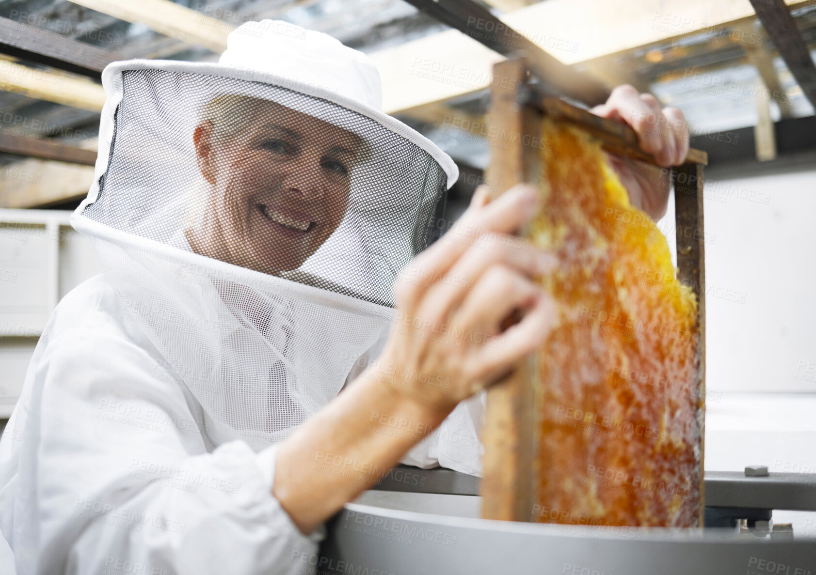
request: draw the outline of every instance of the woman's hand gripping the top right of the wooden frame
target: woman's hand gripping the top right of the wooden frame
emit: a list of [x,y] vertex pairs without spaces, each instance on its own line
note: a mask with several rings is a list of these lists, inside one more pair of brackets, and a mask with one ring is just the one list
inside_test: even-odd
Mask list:
[[612,91],[605,104],[592,108],[597,116],[618,120],[632,126],[641,149],[654,156],[658,166],[607,154],[621,183],[629,192],[632,206],[644,210],[652,219],[666,214],[669,194],[669,171],[689,153],[689,126],[677,108],[660,108],[651,94],[639,94],[624,84]]

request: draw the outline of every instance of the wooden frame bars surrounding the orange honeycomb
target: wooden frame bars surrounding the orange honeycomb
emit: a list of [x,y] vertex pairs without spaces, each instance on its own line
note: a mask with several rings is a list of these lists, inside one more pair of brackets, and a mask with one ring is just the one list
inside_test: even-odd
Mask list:
[[[540,98],[527,84],[528,68],[523,58],[494,65],[491,105],[488,114],[492,157],[486,173],[493,197],[515,184],[536,179],[540,169],[537,148],[530,145],[540,137],[543,117],[573,122],[597,139],[603,148],[638,160],[654,158],[641,152],[637,135],[628,126],[605,120],[562,100]],[[676,245],[678,278],[698,298],[697,332],[700,350],[699,401],[704,403],[705,375],[705,254],[703,250],[703,165],[706,153],[691,149],[685,164],[672,170],[676,182]],[[524,235],[521,230],[521,235]],[[485,519],[534,520],[539,477],[538,430],[540,428],[539,370],[536,359],[521,363],[505,381],[487,394],[483,432],[484,476],[481,482]],[[702,466],[702,459],[701,459]],[[701,470],[702,471],[702,470]],[[700,493],[703,493],[701,472]],[[703,506],[700,506],[700,526]]]

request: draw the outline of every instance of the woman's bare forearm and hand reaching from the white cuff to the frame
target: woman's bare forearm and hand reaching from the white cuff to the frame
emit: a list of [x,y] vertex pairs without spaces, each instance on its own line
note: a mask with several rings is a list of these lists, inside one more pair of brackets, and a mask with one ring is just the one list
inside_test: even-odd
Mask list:
[[[397,283],[397,321],[378,360],[277,448],[273,495],[303,533],[381,480],[460,400],[502,378],[551,329],[534,282],[552,255],[513,235],[538,192],[474,195],[455,227]],[[517,324],[503,329],[512,312]]]

